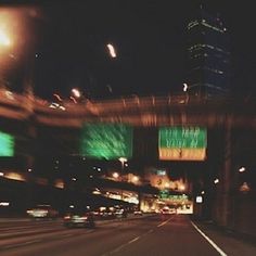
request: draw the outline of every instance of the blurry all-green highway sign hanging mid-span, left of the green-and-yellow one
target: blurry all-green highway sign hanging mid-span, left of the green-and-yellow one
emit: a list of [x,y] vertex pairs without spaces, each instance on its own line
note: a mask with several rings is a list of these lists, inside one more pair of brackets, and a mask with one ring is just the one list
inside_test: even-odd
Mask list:
[[100,159],[130,158],[132,135],[132,127],[124,124],[86,124],[81,130],[80,154]]

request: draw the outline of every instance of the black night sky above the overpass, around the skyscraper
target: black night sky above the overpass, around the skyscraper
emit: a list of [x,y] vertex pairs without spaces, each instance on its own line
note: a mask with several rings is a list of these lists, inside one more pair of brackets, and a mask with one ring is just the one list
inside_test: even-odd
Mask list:
[[[230,1],[201,2],[213,14],[220,14],[229,31],[232,92],[255,95],[253,7]],[[14,68],[15,76],[9,73],[10,79],[17,87],[13,77],[21,79],[24,74],[33,74],[35,91],[42,98],[54,92],[68,97],[74,87],[92,99],[182,93],[187,65],[184,30],[199,5],[200,1],[192,0],[5,3],[3,7],[21,11],[27,7],[35,10],[24,23],[26,50]],[[116,48],[116,59],[107,53],[108,42]],[[25,69],[25,60],[33,69]]]

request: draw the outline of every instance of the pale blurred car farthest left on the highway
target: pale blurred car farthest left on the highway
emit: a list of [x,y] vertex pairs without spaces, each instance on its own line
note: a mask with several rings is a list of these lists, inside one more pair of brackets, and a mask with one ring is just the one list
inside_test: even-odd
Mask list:
[[59,216],[59,212],[48,204],[36,205],[26,213],[35,219],[56,219]]

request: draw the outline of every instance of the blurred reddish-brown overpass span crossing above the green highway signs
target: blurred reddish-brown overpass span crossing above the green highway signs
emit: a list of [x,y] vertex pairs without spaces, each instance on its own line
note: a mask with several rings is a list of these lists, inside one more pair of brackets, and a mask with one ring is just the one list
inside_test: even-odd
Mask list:
[[191,95],[133,97],[114,100],[63,102],[64,108],[33,95],[0,92],[0,116],[26,120],[34,117],[46,126],[79,128],[85,121],[126,123],[133,126],[204,126],[229,123],[256,128],[256,99],[202,99]]

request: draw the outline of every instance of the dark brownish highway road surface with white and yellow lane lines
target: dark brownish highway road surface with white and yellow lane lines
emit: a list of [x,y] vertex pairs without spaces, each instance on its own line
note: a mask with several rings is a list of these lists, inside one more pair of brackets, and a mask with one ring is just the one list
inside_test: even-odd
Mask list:
[[1,256],[256,255],[256,245],[195,223],[185,215],[98,221],[66,229],[55,221],[0,221]]

